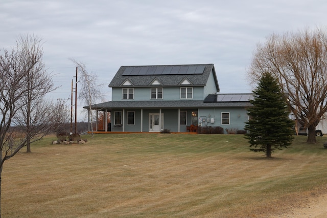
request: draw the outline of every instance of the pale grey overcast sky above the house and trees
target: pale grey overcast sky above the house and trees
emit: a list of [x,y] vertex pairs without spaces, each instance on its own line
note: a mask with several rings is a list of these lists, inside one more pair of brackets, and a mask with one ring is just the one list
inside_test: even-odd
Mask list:
[[249,93],[256,43],[325,28],[326,9],[325,0],[1,0],[0,48],[22,34],[43,39],[45,66],[61,85],[49,100],[71,96],[72,58],[98,75],[106,101],[120,66],[214,63],[221,93]]

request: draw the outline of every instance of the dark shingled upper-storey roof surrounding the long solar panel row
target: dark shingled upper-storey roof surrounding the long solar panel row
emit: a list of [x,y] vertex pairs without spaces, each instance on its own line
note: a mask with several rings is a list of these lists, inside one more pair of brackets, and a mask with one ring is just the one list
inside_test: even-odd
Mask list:
[[[149,68],[155,68],[155,69],[177,69],[180,67],[181,69],[189,68],[189,69],[203,69],[202,73],[199,73],[198,71],[194,70],[196,73],[191,73],[190,71],[179,72],[177,74],[156,74],[151,73],[150,75],[147,75],[145,73],[142,73],[141,75],[131,73],[130,75],[127,72],[140,72],[142,69],[149,69]],[[204,68],[203,68],[204,67]],[[126,72],[125,72],[126,71]],[[111,80],[109,87],[116,88],[121,87],[122,84],[128,80],[131,83],[131,87],[142,87],[142,86],[149,86],[151,83],[157,79],[162,86],[180,86],[180,83],[184,81],[185,78],[187,78],[190,81],[190,85],[192,86],[204,86],[207,83],[208,77],[213,71],[215,83],[217,86],[217,92],[219,92],[219,84],[217,80],[217,75],[215,71],[214,64],[184,64],[184,65],[164,65],[164,66],[122,66],[118,70],[118,72],[115,74],[113,79]],[[125,73],[124,73],[125,72]],[[153,71],[157,72],[157,71]],[[164,71],[168,72],[168,71]]]

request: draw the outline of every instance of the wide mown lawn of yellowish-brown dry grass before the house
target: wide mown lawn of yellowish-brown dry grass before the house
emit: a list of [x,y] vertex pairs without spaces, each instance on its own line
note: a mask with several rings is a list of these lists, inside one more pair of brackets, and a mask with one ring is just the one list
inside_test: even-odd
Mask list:
[[271,160],[240,135],[51,140],[5,163],[4,217],[268,217],[326,187],[321,137],[317,145],[296,137]]

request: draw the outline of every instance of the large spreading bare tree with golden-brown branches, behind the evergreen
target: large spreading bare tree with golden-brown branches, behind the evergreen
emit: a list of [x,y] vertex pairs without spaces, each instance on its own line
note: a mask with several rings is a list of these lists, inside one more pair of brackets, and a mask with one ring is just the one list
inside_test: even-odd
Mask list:
[[259,43],[248,71],[252,81],[271,72],[288,96],[295,119],[308,127],[308,143],[316,143],[315,127],[327,111],[327,35],[322,29],[272,34]]

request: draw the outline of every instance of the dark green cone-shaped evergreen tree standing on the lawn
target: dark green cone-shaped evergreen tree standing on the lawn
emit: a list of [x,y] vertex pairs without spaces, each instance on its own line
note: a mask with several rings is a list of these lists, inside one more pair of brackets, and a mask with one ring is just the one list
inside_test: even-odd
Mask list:
[[250,119],[246,122],[245,138],[250,150],[265,152],[267,158],[275,149],[287,148],[293,140],[293,124],[281,86],[270,73],[264,73],[258,87],[252,92],[252,107],[248,108]]

